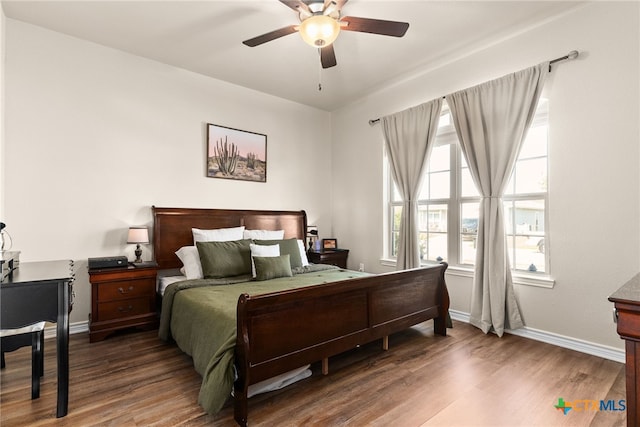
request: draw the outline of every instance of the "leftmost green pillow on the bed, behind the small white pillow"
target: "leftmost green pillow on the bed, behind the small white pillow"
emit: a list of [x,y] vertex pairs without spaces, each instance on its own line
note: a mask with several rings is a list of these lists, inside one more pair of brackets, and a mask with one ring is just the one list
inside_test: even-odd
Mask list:
[[251,274],[251,240],[196,242],[205,279]]

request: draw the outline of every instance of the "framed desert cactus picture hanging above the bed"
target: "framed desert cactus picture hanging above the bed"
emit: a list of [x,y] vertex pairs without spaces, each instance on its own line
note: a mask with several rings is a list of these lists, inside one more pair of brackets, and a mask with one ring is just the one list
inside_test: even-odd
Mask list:
[[267,182],[267,135],[207,123],[207,176]]

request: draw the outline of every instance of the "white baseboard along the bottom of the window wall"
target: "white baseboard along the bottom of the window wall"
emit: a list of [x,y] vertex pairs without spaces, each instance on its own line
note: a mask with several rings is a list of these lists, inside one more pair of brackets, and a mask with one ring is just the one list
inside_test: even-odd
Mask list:
[[[449,310],[449,314],[453,320],[469,323],[469,313],[464,313],[457,310]],[[602,357],[603,359],[613,360],[614,362],[625,363],[624,350],[609,347],[606,345],[594,344],[592,342],[583,341],[577,338],[554,334],[553,332],[541,331],[539,329],[528,328],[526,326],[521,329],[505,329],[505,332],[511,335],[517,335],[535,341],[557,345],[558,347],[568,348],[569,350],[575,350],[581,353],[590,354],[592,356]]]

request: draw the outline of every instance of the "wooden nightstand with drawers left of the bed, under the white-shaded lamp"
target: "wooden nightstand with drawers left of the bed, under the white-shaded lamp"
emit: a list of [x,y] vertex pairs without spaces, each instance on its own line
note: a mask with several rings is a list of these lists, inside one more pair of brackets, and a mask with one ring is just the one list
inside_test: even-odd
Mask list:
[[89,270],[89,342],[101,341],[124,328],[158,326],[156,271],[155,263]]

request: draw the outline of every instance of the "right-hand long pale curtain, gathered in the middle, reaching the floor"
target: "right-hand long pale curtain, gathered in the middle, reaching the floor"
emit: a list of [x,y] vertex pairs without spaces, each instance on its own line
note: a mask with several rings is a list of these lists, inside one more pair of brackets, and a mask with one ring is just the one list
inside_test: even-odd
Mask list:
[[513,290],[502,196],[533,119],[549,63],[447,95],[453,122],[481,195],[471,296],[473,325],[502,336],[524,326]]

